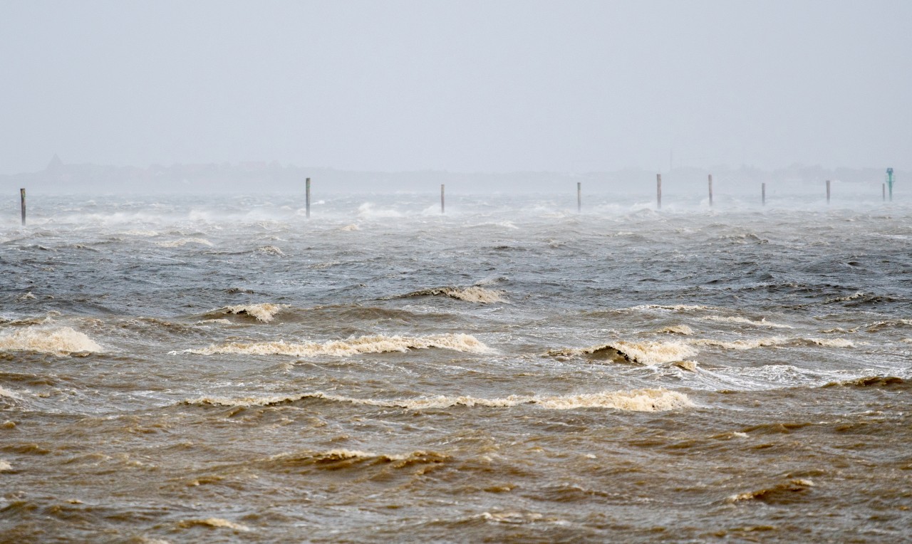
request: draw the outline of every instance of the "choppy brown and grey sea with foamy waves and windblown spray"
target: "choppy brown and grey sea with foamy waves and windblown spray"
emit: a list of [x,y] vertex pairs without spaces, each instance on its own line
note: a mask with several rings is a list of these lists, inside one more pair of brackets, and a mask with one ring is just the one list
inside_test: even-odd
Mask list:
[[912,207],[593,200],[30,196],[0,539],[912,538]]

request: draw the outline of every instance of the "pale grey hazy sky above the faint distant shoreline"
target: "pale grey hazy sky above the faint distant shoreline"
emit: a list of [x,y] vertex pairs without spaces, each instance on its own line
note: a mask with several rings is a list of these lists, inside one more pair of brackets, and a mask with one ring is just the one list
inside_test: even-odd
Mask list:
[[0,0],[0,173],[912,168],[912,2]]

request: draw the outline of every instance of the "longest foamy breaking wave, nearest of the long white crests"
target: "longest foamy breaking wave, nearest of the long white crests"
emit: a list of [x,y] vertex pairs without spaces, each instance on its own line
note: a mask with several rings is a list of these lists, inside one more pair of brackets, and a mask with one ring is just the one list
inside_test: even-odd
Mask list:
[[187,399],[189,405],[219,406],[266,406],[293,403],[307,398],[323,399],[355,405],[371,405],[387,408],[405,408],[409,410],[440,409],[451,406],[505,408],[516,405],[539,405],[550,410],[570,410],[575,408],[613,408],[630,412],[664,412],[693,406],[687,395],[667,389],[637,389],[633,391],[603,391],[582,395],[509,395],[503,398],[477,398],[473,396],[432,396],[409,399],[358,399],[341,395],[328,395],[322,392],[303,395],[249,396],[244,398],[224,398],[202,396]]

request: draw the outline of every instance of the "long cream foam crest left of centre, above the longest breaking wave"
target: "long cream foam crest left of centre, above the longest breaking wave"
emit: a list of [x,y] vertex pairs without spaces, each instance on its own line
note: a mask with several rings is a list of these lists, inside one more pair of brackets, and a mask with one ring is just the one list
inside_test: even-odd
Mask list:
[[412,349],[431,347],[451,349],[458,352],[486,354],[492,350],[482,344],[471,334],[434,334],[430,336],[384,336],[375,334],[335,340],[319,344],[285,344],[279,342],[258,342],[253,344],[230,343],[211,345],[206,348],[187,350],[185,353],[212,354],[251,354],[251,355],[291,355],[294,357],[316,357],[331,355],[346,357],[356,354],[380,354],[387,352],[408,352]]

